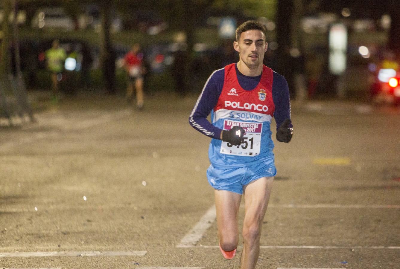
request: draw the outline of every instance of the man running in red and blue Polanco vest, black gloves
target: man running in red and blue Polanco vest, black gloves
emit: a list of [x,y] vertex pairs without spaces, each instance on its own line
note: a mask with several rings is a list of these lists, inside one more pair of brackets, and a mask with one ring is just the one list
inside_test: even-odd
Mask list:
[[[238,245],[238,211],[242,194],[245,213],[241,269],[256,266],[260,235],[276,175],[270,123],[276,138],[288,143],[290,121],[288,84],[263,65],[268,44],[265,29],[255,21],[236,29],[234,49],[239,62],[214,71],[189,117],[190,125],[212,137],[208,150],[208,182],[214,188],[220,250],[232,259]],[[211,113],[211,123],[207,120]]]

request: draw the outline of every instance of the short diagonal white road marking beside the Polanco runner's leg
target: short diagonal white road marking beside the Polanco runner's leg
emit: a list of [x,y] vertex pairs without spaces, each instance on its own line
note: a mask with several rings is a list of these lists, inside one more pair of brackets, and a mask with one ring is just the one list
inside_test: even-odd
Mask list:
[[216,218],[215,205],[212,205],[210,209],[204,214],[193,229],[191,229],[180,241],[180,244],[176,247],[193,247],[202,238],[204,232],[214,223]]

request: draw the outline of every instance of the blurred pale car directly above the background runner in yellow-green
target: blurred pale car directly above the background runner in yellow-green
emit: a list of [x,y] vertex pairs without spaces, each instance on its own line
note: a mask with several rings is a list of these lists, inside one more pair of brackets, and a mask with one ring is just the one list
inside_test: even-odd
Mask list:
[[32,28],[72,31],[76,24],[64,8],[38,8],[32,18]]

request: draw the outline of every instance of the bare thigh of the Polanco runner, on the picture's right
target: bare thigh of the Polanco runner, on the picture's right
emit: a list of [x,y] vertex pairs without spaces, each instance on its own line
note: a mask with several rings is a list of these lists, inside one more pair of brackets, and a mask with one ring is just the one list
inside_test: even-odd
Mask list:
[[270,199],[274,177],[261,177],[243,187],[244,193],[244,225],[260,225]]

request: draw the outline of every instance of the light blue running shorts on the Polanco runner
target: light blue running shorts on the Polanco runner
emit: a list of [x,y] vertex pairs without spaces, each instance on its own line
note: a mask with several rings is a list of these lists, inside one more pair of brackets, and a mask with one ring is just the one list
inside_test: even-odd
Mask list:
[[219,190],[243,194],[243,187],[261,177],[274,177],[276,168],[274,159],[236,168],[218,168],[210,165],[207,169],[208,183]]

